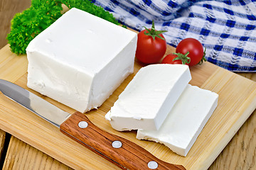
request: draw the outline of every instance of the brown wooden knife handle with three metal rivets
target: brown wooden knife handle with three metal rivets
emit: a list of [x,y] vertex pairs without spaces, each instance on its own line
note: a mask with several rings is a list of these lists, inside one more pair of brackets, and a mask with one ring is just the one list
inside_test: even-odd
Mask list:
[[97,128],[79,112],[65,120],[60,131],[122,169],[185,169],[181,165],[163,162],[139,145]]

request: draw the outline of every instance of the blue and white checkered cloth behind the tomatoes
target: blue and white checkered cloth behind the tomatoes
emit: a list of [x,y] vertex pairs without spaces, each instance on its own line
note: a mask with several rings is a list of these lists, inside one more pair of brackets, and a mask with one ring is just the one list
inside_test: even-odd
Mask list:
[[256,72],[256,0],[92,0],[135,30],[164,33],[176,47],[184,38],[196,38],[206,47],[208,62],[233,72]]

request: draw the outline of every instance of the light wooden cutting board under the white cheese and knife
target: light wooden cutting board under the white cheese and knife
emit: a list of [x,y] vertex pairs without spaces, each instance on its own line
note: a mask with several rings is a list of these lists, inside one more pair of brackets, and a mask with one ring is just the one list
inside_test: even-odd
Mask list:
[[[173,50],[174,48],[169,47],[166,53]],[[28,64],[26,55],[16,56],[6,45],[0,50],[0,56],[0,79],[12,81],[28,89],[26,87]],[[143,67],[142,64],[135,62],[134,74],[130,75],[98,110],[85,114],[92,123],[102,130],[131,140],[166,162],[182,164],[186,169],[208,169],[256,108],[255,81],[228,72],[209,62],[191,67],[192,80],[190,84],[219,94],[218,107],[188,152],[187,157],[178,156],[164,145],[137,140],[135,131],[117,132],[105,120],[105,113],[110,110],[119,94],[141,67]],[[69,113],[75,112],[36,91],[32,92]],[[59,132],[58,128],[27,111],[26,108],[19,106],[3,94],[0,94],[0,128],[73,169],[119,169],[89,149],[70,140]]]

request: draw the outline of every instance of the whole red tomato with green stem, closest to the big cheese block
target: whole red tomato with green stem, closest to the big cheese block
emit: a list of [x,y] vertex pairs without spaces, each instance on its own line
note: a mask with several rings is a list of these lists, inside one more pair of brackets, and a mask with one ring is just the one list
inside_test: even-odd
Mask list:
[[152,23],[151,29],[146,28],[146,30],[142,30],[138,34],[135,57],[137,57],[140,62],[154,64],[164,57],[166,52],[166,40],[164,35],[161,34],[164,32],[166,31],[155,30],[154,23]]

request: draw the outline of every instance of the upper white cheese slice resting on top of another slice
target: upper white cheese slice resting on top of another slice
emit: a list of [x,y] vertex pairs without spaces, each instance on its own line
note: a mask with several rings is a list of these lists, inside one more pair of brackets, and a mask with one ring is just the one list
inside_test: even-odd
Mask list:
[[188,66],[151,64],[139,69],[105,115],[115,130],[158,130],[191,80]]

